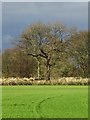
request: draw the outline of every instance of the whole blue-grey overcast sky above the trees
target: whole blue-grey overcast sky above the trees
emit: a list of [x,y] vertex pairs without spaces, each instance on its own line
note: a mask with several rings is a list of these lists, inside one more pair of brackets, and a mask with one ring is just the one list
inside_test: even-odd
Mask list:
[[2,3],[3,48],[35,22],[61,22],[66,26],[88,29],[87,2],[3,2]]

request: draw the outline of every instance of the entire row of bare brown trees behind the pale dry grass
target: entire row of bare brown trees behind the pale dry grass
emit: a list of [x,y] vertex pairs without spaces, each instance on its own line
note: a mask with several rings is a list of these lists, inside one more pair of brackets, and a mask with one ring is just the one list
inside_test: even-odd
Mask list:
[[2,54],[4,77],[88,77],[88,32],[60,23],[28,27]]

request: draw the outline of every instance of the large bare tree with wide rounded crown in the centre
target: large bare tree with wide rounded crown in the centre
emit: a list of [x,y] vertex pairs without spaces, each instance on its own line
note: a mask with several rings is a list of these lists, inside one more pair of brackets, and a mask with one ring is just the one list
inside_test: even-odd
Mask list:
[[38,23],[31,25],[22,33],[20,46],[38,62],[40,62],[39,58],[44,59],[46,80],[50,80],[50,69],[55,65],[56,60],[62,59],[66,39],[69,39],[69,34],[62,24]]

